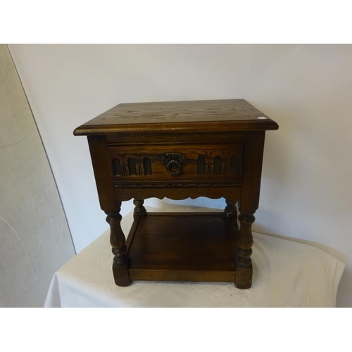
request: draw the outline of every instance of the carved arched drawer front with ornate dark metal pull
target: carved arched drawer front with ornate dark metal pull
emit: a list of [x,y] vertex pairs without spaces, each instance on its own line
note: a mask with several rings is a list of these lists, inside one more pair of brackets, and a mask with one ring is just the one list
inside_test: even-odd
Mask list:
[[115,184],[239,184],[242,142],[108,147]]

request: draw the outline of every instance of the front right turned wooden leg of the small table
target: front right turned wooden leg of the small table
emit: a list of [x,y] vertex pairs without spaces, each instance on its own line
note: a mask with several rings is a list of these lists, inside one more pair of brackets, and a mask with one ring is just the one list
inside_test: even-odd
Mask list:
[[[241,209],[240,209],[241,212]],[[237,236],[237,272],[236,287],[239,289],[249,289],[252,285],[252,224],[255,218],[250,213],[239,214],[239,232]]]

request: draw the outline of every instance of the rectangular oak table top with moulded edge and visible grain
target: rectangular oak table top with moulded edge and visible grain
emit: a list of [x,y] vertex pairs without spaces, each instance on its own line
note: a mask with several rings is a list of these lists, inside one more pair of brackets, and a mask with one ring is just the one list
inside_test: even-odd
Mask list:
[[77,127],[75,135],[118,132],[228,132],[279,126],[244,99],[121,103]]

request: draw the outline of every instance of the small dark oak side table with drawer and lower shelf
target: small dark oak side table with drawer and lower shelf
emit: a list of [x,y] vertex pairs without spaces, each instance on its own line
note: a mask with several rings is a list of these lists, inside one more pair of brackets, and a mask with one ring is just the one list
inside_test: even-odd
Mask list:
[[[115,284],[234,282],[251,287],[251,225],[265,130],[278,125],[243,99],[122,103],[77,127],[86,135],[108,215]],[[225,198],[218,213],[147,213],[144,199]],[[125,240],[122,201],[134,199]],[[237,223],[239,202],[239,225]]]

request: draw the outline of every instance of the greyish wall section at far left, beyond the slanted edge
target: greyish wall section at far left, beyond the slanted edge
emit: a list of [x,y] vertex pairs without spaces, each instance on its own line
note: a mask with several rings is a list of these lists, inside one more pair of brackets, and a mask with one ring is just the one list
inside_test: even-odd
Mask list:
[[51,277],[75,251],[5,44],[0,44],[0,125],[0,306],[42,307]]

